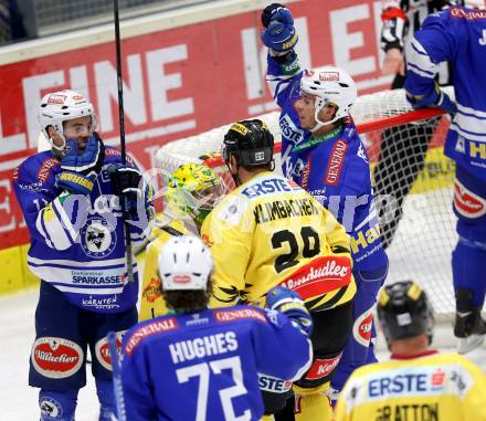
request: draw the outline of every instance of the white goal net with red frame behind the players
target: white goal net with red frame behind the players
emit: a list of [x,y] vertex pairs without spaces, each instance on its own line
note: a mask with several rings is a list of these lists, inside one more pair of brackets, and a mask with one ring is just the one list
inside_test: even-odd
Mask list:
[[[381,231],[388,244],[387,283],[414,280],[432,298],[437,316],[454,313],[451,252],[456,242],[452,212],[454,162],[443,154],[448,117],[440,109],[412,110],[402,90],[360,96],[351,115],[370,158]],[[275,136],[279,171],[278,112],[256,118]],[[231,125],[171,141],[156,156],[169,175],[181,164],[202,162],[234,185],[219,151]],[[323,168],[324,170],[324,168]]]

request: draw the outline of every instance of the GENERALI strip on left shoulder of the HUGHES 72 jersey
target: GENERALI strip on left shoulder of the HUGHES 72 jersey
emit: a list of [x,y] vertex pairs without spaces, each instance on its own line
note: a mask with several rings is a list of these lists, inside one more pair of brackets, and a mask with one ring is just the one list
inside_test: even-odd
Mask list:
[[179,322],[173,315],[160,316],[156,319],[141,322],[129,329],[124,336],[122,345],[124,355],[131,356],[142,343],[178,328]]

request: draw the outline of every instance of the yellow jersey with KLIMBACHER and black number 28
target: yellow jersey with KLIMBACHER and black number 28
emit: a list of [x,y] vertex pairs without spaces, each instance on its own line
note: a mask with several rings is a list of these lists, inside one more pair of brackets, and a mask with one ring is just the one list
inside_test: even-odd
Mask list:
[[311,311],[349,302],[356,293],[345,228],[295,182],[262,172],[228,194],[208,215],[202,240],[215,273],[210,305],[264,305],[282,284]]

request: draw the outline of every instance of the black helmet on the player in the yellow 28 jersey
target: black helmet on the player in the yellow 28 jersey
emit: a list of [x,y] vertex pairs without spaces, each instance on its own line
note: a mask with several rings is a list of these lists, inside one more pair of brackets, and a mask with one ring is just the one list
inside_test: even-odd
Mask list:
[[241,167],[255,167],[273,162],[274,138],[265,123],[260,119],[233,124],[224,135],[222,156],[224,162],[234,155]]

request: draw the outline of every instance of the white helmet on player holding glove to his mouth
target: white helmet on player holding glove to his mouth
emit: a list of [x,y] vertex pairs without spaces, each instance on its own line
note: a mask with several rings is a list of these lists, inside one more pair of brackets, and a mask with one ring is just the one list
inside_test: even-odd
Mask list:
[[[96,127],[96,115],[93,104],[89,103],[83,94],[71,90],[60,92],[52,92],[44,95],[39,106],[39,124],[45,139],[50,145],[57,150],[63,150],[65,147],[65,137],[63,123],[78,117],[92,117],[92,129]],[[55,146],[47,133],[47,126],[54,127],[54,130],[64,140],[63,146]]]

